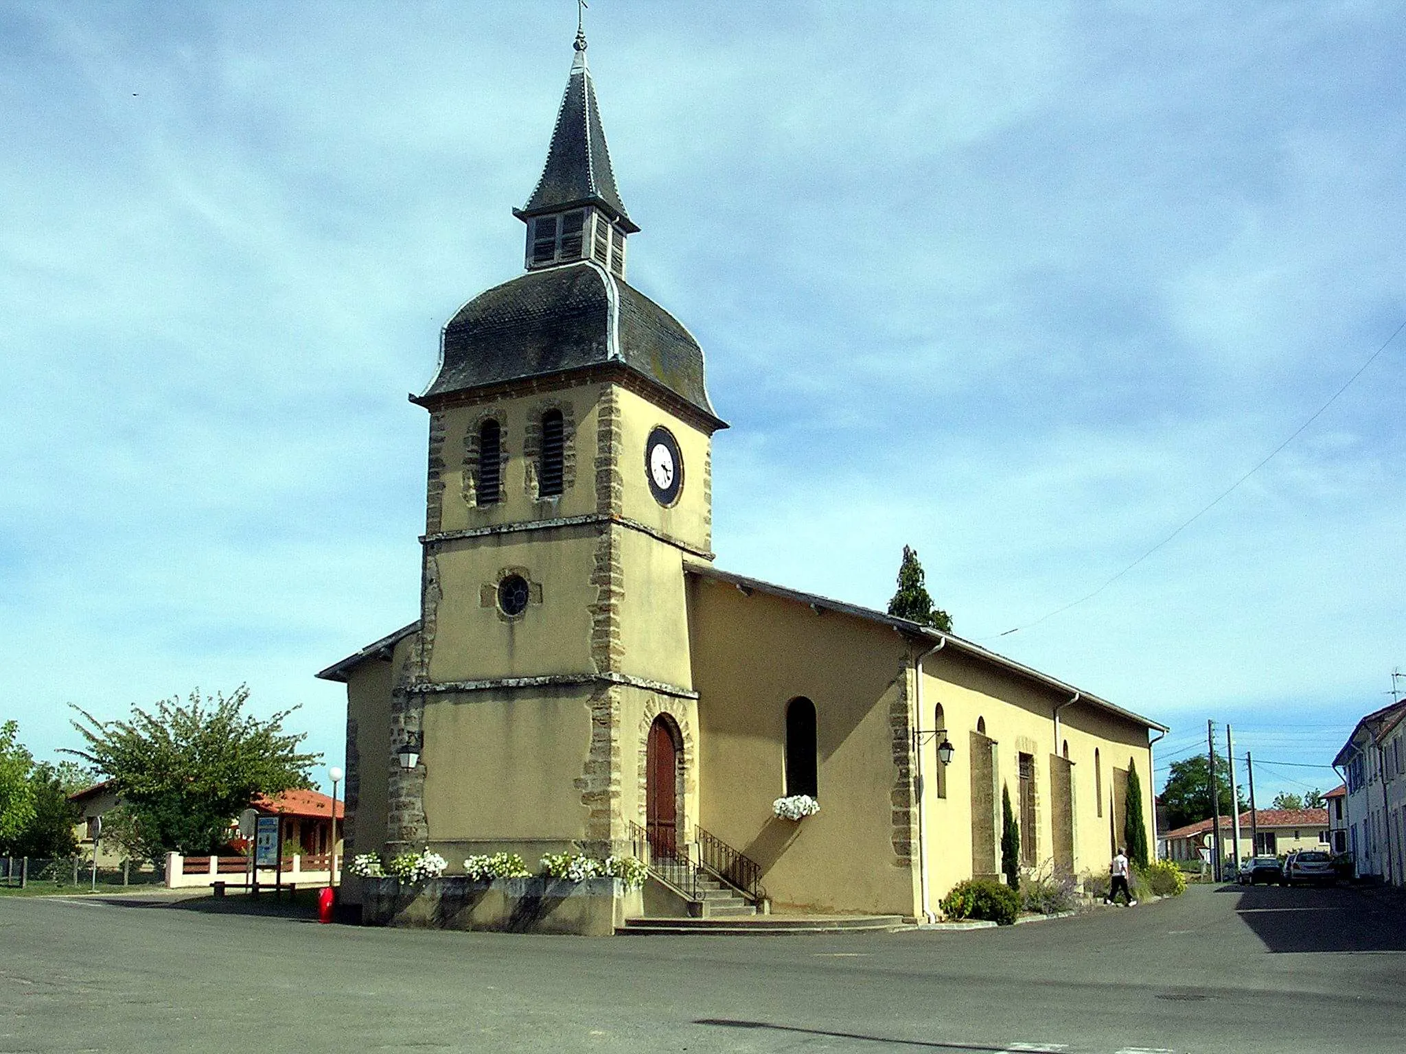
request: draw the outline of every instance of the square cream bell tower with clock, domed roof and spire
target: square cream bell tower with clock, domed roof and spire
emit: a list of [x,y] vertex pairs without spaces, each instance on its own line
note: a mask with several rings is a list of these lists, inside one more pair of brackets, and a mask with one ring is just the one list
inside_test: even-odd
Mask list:
[[422,603],[391,749],[422,749],[392,770],[388,838],[450,861],[621,847],[655,786],[651,734],[675,759],[671,822],[697,808],[683,566],[713,558],[727,426],[697,341],[626,281],[638,226],[579,31],[515,215],[526,273],[454,315],[412,396],[430,415]]

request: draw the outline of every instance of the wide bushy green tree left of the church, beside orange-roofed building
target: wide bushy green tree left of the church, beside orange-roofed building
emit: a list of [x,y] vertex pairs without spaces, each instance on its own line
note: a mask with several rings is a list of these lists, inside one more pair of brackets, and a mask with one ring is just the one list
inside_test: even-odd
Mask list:
[[308,770],[322,755],[298,749],[307,734],[284,731],[292,710],[262,721],[245,713],[247,700],[243,684],[228,698],[201,698],[197,689],[184,705],[177,698],[150,711],[134,705],[127,721],[98,721],[73,707],[83,718],[73,728],[87,748],[67,753],[112,780],[122,798],[112,819],[121,845],[153,861],[167,852],[207,853],[256,794],[312,786]]

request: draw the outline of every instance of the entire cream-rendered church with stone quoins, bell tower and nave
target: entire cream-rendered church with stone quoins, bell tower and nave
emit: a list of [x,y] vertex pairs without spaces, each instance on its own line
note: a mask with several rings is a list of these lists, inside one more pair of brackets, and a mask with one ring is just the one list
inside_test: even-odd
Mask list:
[[[932,918],[1000,870],[1107,873],[1166,728],[953,634],[714,564],[699,343],[628,281],[578,34],[524,273],[468,301],[429,415],[420,617],[347,686],[347,854],[636,856],[643,911]],[[837,542],[841,544],[841,542]],[[773,802],[810,795],[790,819]],[[1152,832],[1149,832],[1150,835]],[[1149,838],[1152,843],[1152,838]],[[344,895],[359,898],[349,880]]]

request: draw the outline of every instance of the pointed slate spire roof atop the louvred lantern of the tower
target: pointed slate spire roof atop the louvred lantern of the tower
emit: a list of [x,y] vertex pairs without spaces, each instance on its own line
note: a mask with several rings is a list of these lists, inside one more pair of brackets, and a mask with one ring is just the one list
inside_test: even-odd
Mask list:
[[610,169],[610,150],[606,146],[605,126],[600,124],[600,110],[596,105],[596,89],[591,80],[591,70],[586,69],[583,35],[576,35],[575,48],[576,58],[571,63],[567,91],[561,97],[557,125],[551,131],[547,164],[526,208],[517,215],[536,216],[575,205],[595,204],[619,219],[626,230],[634,232],[640,228],[626,214],[614,171]]

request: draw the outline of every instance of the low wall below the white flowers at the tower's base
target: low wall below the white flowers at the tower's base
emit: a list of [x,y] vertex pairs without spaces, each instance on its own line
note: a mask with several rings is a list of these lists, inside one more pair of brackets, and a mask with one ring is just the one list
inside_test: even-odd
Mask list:
[[576,933],[609,937],[627,916],[643,913],[638,890],[619,878],[495,878],[450,876],[408,885],[398,878],[363,878],[364,926]]

